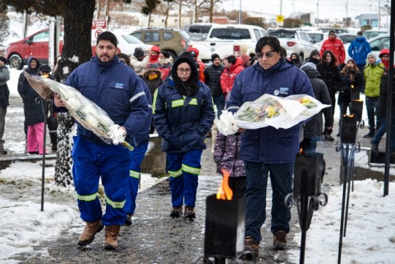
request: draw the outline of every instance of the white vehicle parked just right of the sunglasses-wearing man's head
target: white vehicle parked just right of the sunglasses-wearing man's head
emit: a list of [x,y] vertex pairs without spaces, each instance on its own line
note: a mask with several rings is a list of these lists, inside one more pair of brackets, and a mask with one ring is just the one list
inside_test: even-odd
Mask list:
[[278,29],[270,31],[270,36],[275,36],[280,41],[281,46],[287,50],[287,56],[297,53],[301,60],[307,58],[313,50],[317,49],[314,41],[306,31],[294,29]]

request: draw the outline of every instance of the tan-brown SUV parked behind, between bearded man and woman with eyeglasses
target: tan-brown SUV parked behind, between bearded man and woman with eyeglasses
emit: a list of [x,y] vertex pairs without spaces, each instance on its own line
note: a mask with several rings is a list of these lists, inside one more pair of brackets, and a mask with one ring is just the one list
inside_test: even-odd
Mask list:
[[186,51],[191,43],[185,31],[175,28],[141,28],[130,35],[146,44],[156,45],[162,51],[168,51],[173,60]]

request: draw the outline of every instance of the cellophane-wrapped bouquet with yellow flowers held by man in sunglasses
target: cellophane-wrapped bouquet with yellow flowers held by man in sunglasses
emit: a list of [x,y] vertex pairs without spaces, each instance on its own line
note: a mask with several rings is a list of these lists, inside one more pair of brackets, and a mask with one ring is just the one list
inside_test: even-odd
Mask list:
[[325,107],[330,105],[323,105],[310,95],[278,97],[265,94],[253,102],[243,103],[234,116],[222,114],[217,127],[219,132],[226,134],[237,132],[236,127],[248,130],[268,126],[287,129],[316,115]]

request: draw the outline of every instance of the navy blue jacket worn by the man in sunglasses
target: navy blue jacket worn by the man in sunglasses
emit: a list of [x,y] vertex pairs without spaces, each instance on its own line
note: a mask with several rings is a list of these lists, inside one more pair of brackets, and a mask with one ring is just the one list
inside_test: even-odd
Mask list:
[[[226,109],[236,112],[244,102],[252,102],[263,94],[287,97],[307,94],[314,97],[307,75],[288,61],[281,59],[268,70],[259,63],[243,70],[235,80]],[[299,129],[263,127],[246,130],[241,137],[241,159],[246,162],[288,163],[295,162],[299,151]]]

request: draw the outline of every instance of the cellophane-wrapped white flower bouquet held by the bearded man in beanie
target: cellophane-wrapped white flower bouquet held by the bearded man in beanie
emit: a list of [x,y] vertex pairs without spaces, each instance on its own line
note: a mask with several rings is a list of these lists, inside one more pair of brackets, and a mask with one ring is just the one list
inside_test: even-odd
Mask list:
[[120,126],[111,120],[107,112],[82,95],[80,91],[55,80],[30,75],[26,71],[23,73],[31,87],[42,97],[47,95],[50,90],[60,95],[65,107],[75,120],[85,129],[95,133],[102,141],[107,144],[121,144],[130,151],[133,150],[133,147],[125,141],[123,130],[118,129]]

